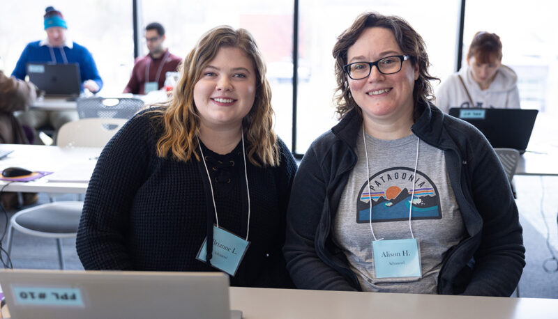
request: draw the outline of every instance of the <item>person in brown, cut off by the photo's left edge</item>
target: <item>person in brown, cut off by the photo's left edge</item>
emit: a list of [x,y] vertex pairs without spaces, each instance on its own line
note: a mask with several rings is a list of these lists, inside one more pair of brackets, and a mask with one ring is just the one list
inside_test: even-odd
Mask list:
[[[26,134],[20,121],[13,115],[14,111],[25,111],[35,102],[39,90],[32,83],[6,77],[0,70],[0,143],[28,144],[32,143],[31,134]],[[30,135],[30,136],[28,136]],[[22,193],[23,205],[35,203],[37,193]],[[6,210],[17,208],[19,205],[17,193],[2,192],[0,203]]]

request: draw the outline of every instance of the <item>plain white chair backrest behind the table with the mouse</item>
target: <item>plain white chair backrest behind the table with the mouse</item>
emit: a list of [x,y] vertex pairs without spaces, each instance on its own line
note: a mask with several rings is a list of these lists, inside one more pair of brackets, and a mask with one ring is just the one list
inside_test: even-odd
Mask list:
[[68,122],[58,131],[58,146],[104,147],[128,120],[126,118],[82,118]]

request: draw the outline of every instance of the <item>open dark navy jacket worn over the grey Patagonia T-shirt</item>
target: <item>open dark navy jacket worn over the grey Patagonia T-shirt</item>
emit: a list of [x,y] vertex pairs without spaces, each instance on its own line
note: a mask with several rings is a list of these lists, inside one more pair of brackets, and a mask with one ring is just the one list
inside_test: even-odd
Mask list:
[[[412,132],[444,151],[467,231],[443,256],[437,293],[509,296],[525,267],[522,228],[506,173],[481,132],[430,105]],[[331,227],[357,158],[362,119],[353,109],[312,143],[294,179],[283,249],[298,288],[361,290]]]

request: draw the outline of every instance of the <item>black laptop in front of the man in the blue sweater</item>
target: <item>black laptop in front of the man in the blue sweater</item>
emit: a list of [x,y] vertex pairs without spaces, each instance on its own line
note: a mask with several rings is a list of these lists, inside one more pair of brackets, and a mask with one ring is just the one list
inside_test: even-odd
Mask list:
[[82,80],[77,63],[27,63],[27,75],[46,95],[80,95]]

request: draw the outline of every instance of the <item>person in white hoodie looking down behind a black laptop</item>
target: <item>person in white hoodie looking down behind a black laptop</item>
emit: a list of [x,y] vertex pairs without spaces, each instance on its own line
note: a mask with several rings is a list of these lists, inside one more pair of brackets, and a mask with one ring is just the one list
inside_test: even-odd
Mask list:
[[495,33],[477,32],[469,46],[467,65],[436,91],[436,106],[519,109],[518,75],[502,64],[502,42]]

